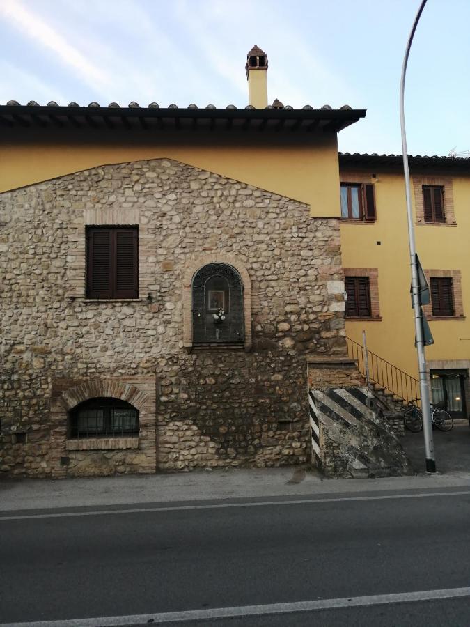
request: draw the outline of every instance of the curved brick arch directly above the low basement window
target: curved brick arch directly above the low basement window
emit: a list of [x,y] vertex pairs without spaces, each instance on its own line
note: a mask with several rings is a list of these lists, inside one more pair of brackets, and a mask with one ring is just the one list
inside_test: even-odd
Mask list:
[[111,379],[95,379],[65,390],[58,398],[58,403],[65,410],[70,411],[79,403],[89,401],[91,398],[118,398],[120,401],[130,403],[139,412],[145,409],[149,400],[143,390],[130,383],[121,383]]

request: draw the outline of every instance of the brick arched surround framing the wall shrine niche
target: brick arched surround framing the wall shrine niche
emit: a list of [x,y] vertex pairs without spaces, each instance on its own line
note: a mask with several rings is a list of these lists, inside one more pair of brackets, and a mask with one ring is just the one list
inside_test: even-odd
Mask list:
[[251,349],[252,335],[251,335],[251,280],[246,270],[246,266],[239,258],[231,254],[221,254],[219,252],[207,253],[196,258],[191,259],[186,265],[185,272],[183,274],[183,346],[185,348],[192,348],[193,346],[193,324],[191,316],[192,307],[192,281],[193,277],[201,270],[203,266],[209,263],[226,263],[233,266],[240,274],[240,278],[243,283],[243,308],[244,308],[244,350]]

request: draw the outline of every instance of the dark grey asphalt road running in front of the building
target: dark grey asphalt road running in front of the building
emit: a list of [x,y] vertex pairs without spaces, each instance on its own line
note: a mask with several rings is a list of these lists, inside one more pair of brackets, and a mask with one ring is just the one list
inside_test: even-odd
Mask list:
[[467,626],[469,527],[469,487],[3,511],[0,624]]

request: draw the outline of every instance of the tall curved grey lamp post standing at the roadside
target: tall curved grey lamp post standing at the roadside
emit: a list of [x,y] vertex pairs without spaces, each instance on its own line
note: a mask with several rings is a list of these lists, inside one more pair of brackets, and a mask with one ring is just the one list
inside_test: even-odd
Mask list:
[[418,26],[419,18],[423,13],[423,8],[427,0],[421,2],[413,28],[409,34],[405,58],[403,59],[402,77],[400,82],[400,125],[402,131],[402,149],[403,149],[403,170],[405,173],[405,192],[407,199],[407,219],[408,219],[408,240],[409,240],[409,256],[412,266],[412,302],[414,311],[414,326],[416,329],[416,350],[418,352],[418,369],[419,369],[419,387],[421,392],[421,411],[423,412],[423,435],[426,456],[426,470],[428,472],[436,472],[436,462],[434,460],[434,442],[432,441],[431,412],[429,401],[429,385],[428,373],[426,371],[426,358],[424,354],[425,338],[423,332],[423,311],[421,310],[420,285],[418,278],[418,257],[416,256],[416,243],[414,240],[414,225],[412,215],[412,198],[409,186],[409,167],[408,167],[408,151],[407,151],[407,134],[405,130],[405,77],[407,73],[407,63],[409,49],[412,47],[412,41],[416,26]]

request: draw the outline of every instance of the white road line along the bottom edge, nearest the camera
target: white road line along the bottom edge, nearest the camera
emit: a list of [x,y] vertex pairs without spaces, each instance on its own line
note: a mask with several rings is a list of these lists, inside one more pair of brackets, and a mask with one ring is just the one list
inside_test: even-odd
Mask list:
[[[120,627],[141,623],[162,625],[186,621],[265,616],[267,614],[292,614],[315,610],[334,610],[338,607],[364,607],[368,605],[390,605],[391,603],[416,603],[438,601],[447,598],[470,596],[470,587],[420,592],[398,592],[397,594],[375,594],[344,598],[322,598],[315,601],[295,603],[270,603],[269,605],[241,605],[240,607],[217,607],[212,610],[186,610],[159,614],[134,614],[132,616],[107,616],[60,621],[33,621],[29,623],[1,623],[0,627]],[[151,621],[151,622],[150,622]]]

